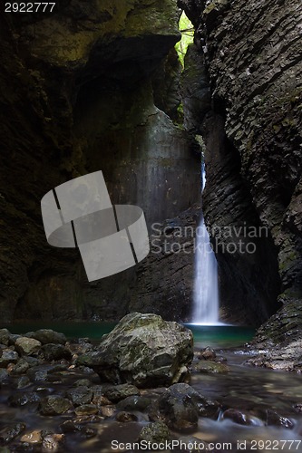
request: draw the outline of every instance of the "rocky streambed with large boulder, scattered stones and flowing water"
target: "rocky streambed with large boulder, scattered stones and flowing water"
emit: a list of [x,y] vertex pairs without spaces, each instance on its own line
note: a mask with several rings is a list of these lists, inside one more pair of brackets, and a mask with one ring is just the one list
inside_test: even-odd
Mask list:
[[193,350],[190,330],[153,314],[127,315],[98,343],[2,329],[0,452],[299,450],[299,375],[248,366],[257,353]]

